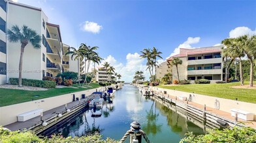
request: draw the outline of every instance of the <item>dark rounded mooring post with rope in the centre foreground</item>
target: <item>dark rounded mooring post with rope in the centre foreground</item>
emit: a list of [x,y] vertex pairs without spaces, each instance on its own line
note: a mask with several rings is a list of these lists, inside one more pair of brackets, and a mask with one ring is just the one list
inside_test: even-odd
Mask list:
[[130,129],[133,131],[133,133],[130,133],[130,143],[141,143],[142,135],[140,133],[140,123],[134,121],[130,125]]

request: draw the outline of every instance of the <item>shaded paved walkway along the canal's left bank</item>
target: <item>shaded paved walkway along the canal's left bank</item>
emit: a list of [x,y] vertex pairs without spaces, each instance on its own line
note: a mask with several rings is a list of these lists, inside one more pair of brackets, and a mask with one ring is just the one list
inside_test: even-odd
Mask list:
[[[87,99],[87,98],[86,98]],[[82,104],[86,101],[86,99],[81,99],[80,101],[72,101],[71,103],[67,103],[67,109],[71,109],[72,107],[75,107],[78,104]],[[56,107],[54,109],[46,110],[42,114],[42,120],[47,120],[49,118],[52,118],[53,116],[56,116],[59,112],[65,111],[65,105],[61,105],[59,107]],[[33,125],[40,122],[40,116],[37,116],[35,118],[31,118],[30,120],[27,120],[25,122],[14,122],[10,123],[8,125],[5,125],[10,131],[16,131],[18,129],[29,129],[29,127],[32,127]]]

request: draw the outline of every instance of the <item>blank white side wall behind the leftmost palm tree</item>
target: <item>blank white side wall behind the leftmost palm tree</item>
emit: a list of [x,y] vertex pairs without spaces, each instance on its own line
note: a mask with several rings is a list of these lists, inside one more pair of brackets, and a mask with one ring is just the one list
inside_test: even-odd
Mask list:
[[[41,35],[42,29],[41,11],[24,6],[17,6],[9,2],[8,5],[8,23],[7,28],[10,29],[13,25],[22,27],[27,25]],[[31,22],[33,21],[33,22]],[[7,70],[8,79],[10,77],[18,77],[18,67],[20,62],[20,43],[8,43],[8,64]],[[42,47],[35,49],[31,44],[25,46],[23,59],[22,78],[26,79],[42,79]]]

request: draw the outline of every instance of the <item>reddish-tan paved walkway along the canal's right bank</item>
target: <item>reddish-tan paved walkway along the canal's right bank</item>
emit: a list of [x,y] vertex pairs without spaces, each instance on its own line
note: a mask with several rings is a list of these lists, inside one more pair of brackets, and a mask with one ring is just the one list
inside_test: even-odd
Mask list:
[[[167,94],[163,94],[163,96],[165,96],[165,98],[171,98],[171,99],[175,99],[175,96],[168,96]],[[177,99],[178,101],[181,101],[183,103],[187,103],[187,101],[182,101],[180,99]],[[193,107],[197,107],[198,109],[204,110],[204,105],[200,105],[198,103],[194,103],[189,101],[188,102],[189,105],[192,105]],[[235,118],[233,116],[231,116],[230,112],[225,112],[223,110],[217,110],[211,107],[206,107],[206,111],[211,112],[212,114],[216,114],[218,116],[221,116],[223,118],[235,121]],[[256,121],[246,121],[246,120],[242,120],[238,118],[238,122],[240,123],[244,123],[245,125],[247,125],[248,127],[252,127],[253,129],[256,129]]]

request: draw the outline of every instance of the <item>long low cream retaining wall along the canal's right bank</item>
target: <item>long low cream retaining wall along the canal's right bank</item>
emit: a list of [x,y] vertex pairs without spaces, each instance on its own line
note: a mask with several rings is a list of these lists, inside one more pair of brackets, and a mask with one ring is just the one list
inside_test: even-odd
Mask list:
[[167,94],[170,96],[185,96],[187,99],[189,98],[189,94],[193,96],[192,101],[194,103],[198,103],[200,105],[206,105],[207,107],[212,107],[215,108],[215,101],[216,99],[219,101],[219,110],[223,110],[225,112],[231,112],[231,109],[240,109],[240,110],[245,110],[248,112],[251,112],[254,114],[254,120],[256,120],[256,104],[253,103],[246,103],[242,101],[235,101],[231,99],[224,99],[224,98],[216,98],[213,96],[204,96],[201,94],[193,94],[189,92],[180,92],[177,90],[168,90],[164,88],[157,88],[157,87],[152,87],[154,90],[157,91],[167,91]]

